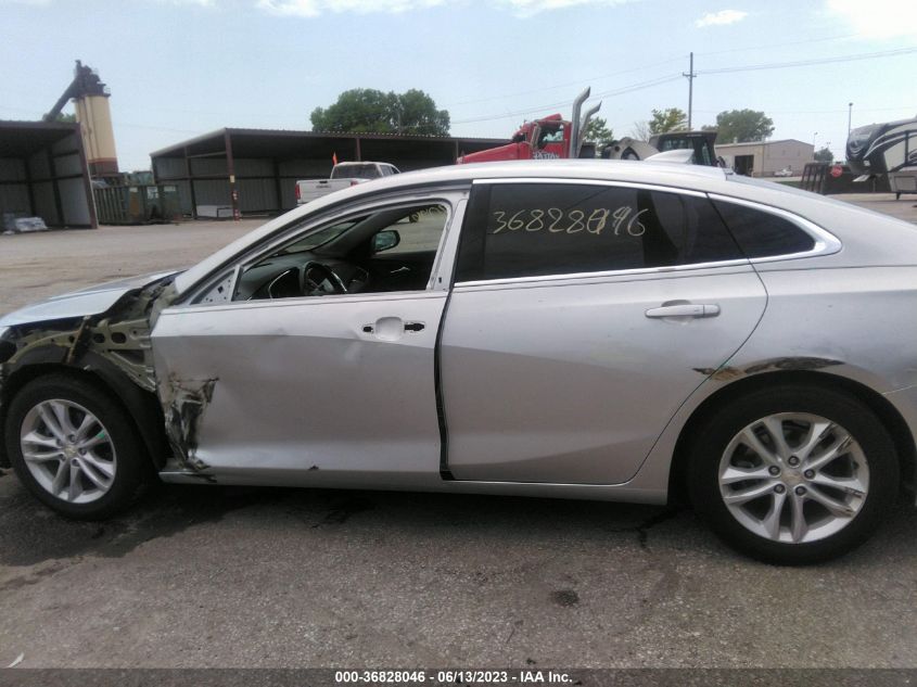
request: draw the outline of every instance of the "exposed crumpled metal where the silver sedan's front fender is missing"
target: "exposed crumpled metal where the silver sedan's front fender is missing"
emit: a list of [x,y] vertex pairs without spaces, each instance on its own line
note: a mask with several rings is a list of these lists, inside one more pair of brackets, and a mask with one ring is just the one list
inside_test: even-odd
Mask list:
[[[171,282],[167,277],[129,291],[98,315],[0,330],[0,420],[4,416],[4,387],[28,365],[59,365],[100,374],[120,372],[137,387],[156,396],[166,419],[165,436],[179,463],[195,472],[206,469],[195,457],[196,436],[216,380],[170,379],[162,384],[153,365],[150,334],[160,313],[175,300]],[[163,428],[157,430],[162,432]],[[0,456],[2,462],[4,456]]]

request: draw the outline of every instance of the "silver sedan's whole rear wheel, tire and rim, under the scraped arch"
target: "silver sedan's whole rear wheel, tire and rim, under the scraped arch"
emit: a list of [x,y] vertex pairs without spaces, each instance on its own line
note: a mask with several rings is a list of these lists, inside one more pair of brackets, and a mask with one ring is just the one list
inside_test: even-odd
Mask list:
[[721,408],[693,442],[695,508],[735,548],[773,563],[835,558],[894,502],[899,463],[875,414],[811,387],[762,390]]

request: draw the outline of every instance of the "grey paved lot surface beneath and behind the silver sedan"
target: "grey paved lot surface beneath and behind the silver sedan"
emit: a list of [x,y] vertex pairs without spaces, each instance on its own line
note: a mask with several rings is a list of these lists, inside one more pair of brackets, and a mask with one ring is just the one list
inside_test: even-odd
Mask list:
[[[0,237],[0,311],[257,224]],[[917,667],[915,533],[903,505],[852,556],[778,569],[684,509],[203,486],[92,524],[8,472],[0,666]]]

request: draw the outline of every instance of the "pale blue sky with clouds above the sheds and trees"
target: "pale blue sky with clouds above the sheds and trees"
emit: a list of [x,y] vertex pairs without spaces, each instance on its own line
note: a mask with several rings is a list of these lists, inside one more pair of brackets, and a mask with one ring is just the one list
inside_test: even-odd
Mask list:
[[631,136],[687,111],[690,52],[695,128],[760,110],[843,157],[849,113],[917,115],[915,0],[0,0],[0,119],[40,118],[81,60],[124,170],[222,127],[307,130],[351,88],[419,88],[454,136],[508,138],[588,86]]

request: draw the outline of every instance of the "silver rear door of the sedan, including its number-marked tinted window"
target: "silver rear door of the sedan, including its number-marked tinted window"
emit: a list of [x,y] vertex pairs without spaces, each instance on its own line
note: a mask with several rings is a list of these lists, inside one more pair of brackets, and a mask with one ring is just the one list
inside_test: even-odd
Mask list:
[[765,302],[703,194],[475,185],[442,333],[449,471],[627,481]]

